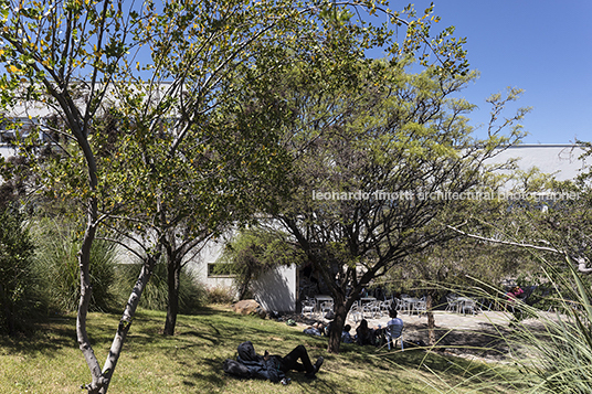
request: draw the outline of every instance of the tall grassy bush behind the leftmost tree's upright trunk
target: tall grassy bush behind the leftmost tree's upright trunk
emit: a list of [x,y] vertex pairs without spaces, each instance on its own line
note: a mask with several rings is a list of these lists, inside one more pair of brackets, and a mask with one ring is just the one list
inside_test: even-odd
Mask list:
[[[35,259],[38,269],[46,280],[50,306],[60,311],[74,311],[80,302],[78,246],[73,224],[44,219],[36,224],[39,245]],[[95,239],[91,249],[92,311],[113,310],[117,247]]]

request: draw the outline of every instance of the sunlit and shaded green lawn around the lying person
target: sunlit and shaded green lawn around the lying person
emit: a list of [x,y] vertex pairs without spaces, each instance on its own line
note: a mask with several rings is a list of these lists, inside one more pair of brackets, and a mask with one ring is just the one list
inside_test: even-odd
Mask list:
[[[516,393],[507,382],[524,382],[510,366],[443,358],[432,352],[343,344],[326,352],[326,339],[305,336],[285,323],[210,308],[180,316],[175,337],[160,330],[165,313],[140,310],[134,321],[109,393]],[[118,316],[91,313],[88,332],[95,353],[105,360]],[[296,372],[287,386],[226,376],[222,362],[234,359],[239,343],[250,340],[257,353],[285,354],[297,344],[310,358],[325,356],[317,379]],[[75,317],[45,323],[32,337],[0,337],[0,393],[82,393],[91,380],[77,348]],[[504,383],[506,382],[506,383]]]

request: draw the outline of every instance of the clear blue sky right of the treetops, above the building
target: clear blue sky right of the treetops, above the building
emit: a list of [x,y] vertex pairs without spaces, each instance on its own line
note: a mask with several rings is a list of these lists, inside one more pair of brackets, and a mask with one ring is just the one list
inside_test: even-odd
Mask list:
[[[402,9],[409,1],[391,0]],[[415,1],[416,10],[431,1]],[[592,1],[434,0],[437,25],[466,36],[471,67],[480,72],[463,96],[478,105],[471,118],[486,124],[485,99],[508,86],[525,89],[516,107],[532,107],[525,143],[592,141]],[[508,115],[510,113],[507,113]],[[484,132],[485,127],[477,132]]]

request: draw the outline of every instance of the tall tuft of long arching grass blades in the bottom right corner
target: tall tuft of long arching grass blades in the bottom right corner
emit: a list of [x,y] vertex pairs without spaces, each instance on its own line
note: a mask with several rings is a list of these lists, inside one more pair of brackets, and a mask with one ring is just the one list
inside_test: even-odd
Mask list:
[[[539,309],[520,301],[507,305],[508,319],[511,318],[509,333],[500,330],[499,339],[509,350],[506,363],[514,364],[517,375],[499,375],[496,381],[514,387],[516,393],[592,393],[592,290],[572,264],[568,264],[569,275],[560,275],[551,264],[545,264],[552,288],[546,295],[546,306],[556,307]],[[472,297],[489,294],[498,300],[504,296],[482,285],[487,290],[477,290]],[[498,365],[494,363],[489,368],[494,374]],[[456,387],[451,386],[448,392],[455,393],[457,387],[467,385],[479,392],[486,392],[488,386],[486,381],[472,375]]]

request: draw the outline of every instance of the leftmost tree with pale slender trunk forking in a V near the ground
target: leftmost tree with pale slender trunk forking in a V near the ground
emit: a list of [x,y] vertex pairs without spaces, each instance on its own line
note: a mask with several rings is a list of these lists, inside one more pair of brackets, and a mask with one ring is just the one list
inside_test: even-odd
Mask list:
[[[129,331],[141,290],[150,276],[148,259],[126,305],[114,344],[104,369],[98,364],[86,330],[92,298],[91,248],[103,217],[98,215],[101,179],[91,136],[97,116],[104,110],[119,65],[131,45],[129,35],[137,12],[123,12],[123,1],[4,1],[0,4],[3,41],[0,62],[6,74],[0,79],[0,102],[9,117],[24,117],[32,128],[20,132],[23,124],[12,126],[21,137],[21,155],[30,157],[45,190],[84,204],[86,227],[78,252],[81,298],[76,322],[80,349],[92,374],[89,393],[105,393],[121,345]],[[59,155],[53,161],[39,161],[33,115],[47,110],[57,115],[65,140],[54,140]],[[22,114],[19,114],[22,110]],[[7,119],[10,120],[10,119]],[[38,119],[40,120],[40,119]],[[51,137],[51,134],[45,136]],[[54,164],[54,166],[51,166]]]

